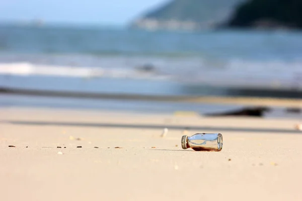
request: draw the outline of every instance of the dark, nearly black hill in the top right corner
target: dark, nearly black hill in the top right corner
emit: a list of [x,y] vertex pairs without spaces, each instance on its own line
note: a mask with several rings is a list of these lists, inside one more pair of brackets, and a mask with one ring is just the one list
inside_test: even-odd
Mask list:
[[240,4],[230,27],[302,29],[302,0],[252,0]]

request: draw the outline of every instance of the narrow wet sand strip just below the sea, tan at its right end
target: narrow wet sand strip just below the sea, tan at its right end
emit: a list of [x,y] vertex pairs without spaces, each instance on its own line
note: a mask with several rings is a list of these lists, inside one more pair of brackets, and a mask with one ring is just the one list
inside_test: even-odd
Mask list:
[[[270,91],[272,93],[273,91]],[[277,91],[275,91],[277,93]],[[281,91],[280,91],[281,92]],[[290,93],[290,91],[287,91]],[[294,91],[292,91],[294,93]],[[246,97],[246,96],[209,96],[209,95],[147,95],[134,93],[97,93],[72,92],[38,89],[21,89],[0,87],[0,94],[27,95],[35,97],[59,97],[81,99],[109,99],[109,100],[136,100],[148,102],[182,102],[223,105],[245,105],[266,107],[302,107],[301,98],[272,98],[272,97]]]

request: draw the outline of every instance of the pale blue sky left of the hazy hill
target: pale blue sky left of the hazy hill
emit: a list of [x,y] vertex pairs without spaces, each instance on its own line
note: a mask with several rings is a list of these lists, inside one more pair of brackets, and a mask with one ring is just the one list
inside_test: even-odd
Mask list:
[[168,0],[0,0],[0,21],[125,25]]

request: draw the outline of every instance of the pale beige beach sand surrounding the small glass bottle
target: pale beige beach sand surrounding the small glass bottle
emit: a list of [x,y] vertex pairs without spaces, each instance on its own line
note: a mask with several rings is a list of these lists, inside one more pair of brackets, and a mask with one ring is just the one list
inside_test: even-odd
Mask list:
[[[0,197],[302,200],[300,121],[2,108]],[[182,150],[184,127],[222,133],[222,151]]]

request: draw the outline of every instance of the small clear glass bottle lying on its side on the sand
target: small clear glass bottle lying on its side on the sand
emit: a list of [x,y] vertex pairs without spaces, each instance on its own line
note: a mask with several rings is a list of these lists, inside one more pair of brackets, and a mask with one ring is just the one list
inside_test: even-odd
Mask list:
[[195,151],[221,151],[223,139],[220,133],[197,133],[191,137],[184,135],[181,139],[183,149]]

